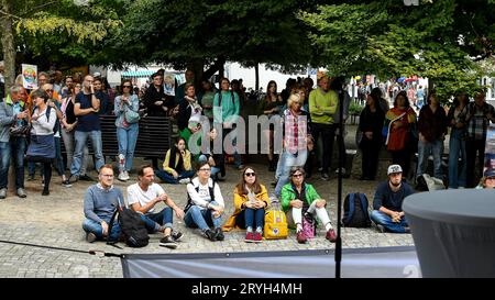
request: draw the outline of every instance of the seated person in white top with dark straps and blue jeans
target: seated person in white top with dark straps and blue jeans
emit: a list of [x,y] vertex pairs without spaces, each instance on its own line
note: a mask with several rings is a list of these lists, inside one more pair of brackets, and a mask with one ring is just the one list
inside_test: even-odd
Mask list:
[[224,203],[220,187],[210,178],[211,167],[208,162],[198,162],[196,173],[197,177],[187,185],[188,202],[184,223],[188,227],[199,227],[211,242],[223,241],[221,216]]

